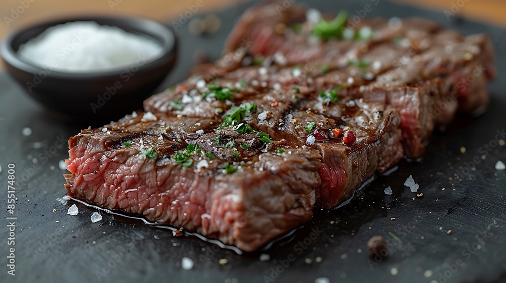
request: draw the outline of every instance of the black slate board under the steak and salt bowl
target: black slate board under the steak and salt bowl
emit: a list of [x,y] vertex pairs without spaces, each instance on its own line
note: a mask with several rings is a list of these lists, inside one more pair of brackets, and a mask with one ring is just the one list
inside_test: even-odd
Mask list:
[[[317,211],[315,220],[297,230],[291,237],[294,239],[277,242],[262,252],[270,255],[268,261],[260,261],[260,253],[238,255],[195,237],[175,238],[168,230],[120,216],[103,214],[102,221],[92,223],[90,216],[95,210],[80,204],[77,216],[67,215],[73,202],[62,204],[57,200],[65,193],[62,177],[65,171],[58,168],[58,163],[68,157],[66,145],[62,146],[59,140],[65,143],[82,125],[68,125],[49,117],[7,74],[1,73],[1,281],[232,283],[268,282],[267,277],[275,282],[314,282],[318,277],[328,277],[332,283],[506,281],[506,171],[494,169],[497,160],[506,162],[506,150],[504,146],[482,148],[484,144],[496,145],[492,140],[505,126],[506,30],[455,21],[454,17],[448,21],[443,11],[430,12],[385,1],[374,6],[376,2],[363,0],[336,5],[333,1],[318,1],[310,5],[333,13],[346,9],[353,16],[354,11],[372,4],[367,16],[421,16],[465,34],[490,33],[496,43],[499,74],[489,87],[491,104],[480,117],[473,120],[458,117],[447,132],[435,134],[423,161],[403,161],[399,170],[378,177],[348,205],[333,211]],[[184,78],[194,64],[195,50],[205,49],[216,58],[233,23],[250,5],[217,12],[223,21],[222,28],[212,36],[193,37],[186,29],[187,24],[180,29],[179,63],[164,87]],[[33,133],[23,135],[24,127],[30,127]],[[465,147],[466,153],[460,153],[460,147]],[[480,159],[485,152],[486,158]],[[475,157],[479,158],[479,164],[471,164]],[[5,209],[9,163],[16,164],[19,200],[14,215],[7,215]],[[466,164],[475,170],[465,169]],[[403,186],[410,174],[419,183],[423,197],[417,198]],[[460,177],[455,179],[455,174]],[[392,187],[392,196],[384,194],[386,186]],[[7,274],[8,248],[13,247],[7,245],[5,218],[9,216],[17,217],[15,276]],[[447,234],[449,229],[451,234]],[[389,257],[367,256],[366,242],[373,235],[383,235],[392,243]],[[478,250],[475,252],[473,248]],[[183,257],[193,259],[191,270],[181,268]],[[228,259],[226,265],[219,264],[222,258]],[[464,266],[456,266],[457,260]],[[397,274],[392,275],[396,270]]]

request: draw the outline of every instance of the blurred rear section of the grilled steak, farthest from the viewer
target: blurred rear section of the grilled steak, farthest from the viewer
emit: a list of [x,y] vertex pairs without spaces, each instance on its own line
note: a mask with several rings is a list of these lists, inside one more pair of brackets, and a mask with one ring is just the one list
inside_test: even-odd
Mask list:
[[[344,85],[342,91],[353,97],[383,101],[401,113],[410,158],[424,153],[423,141],[435,126],[449,124],[457,108],[471,112],[488,103],[486,82],[495,69],[492,42],[484,34],[464,37],[421,19],[363,19],[348,25],[355,36],[369,34],[362,40],[321,42],[315,41],[315,23],[307,21],[305,9],[292,5],[272,13],[275,5],[250,9],[230,34],[227,51],[239,49],[246,59],[235,51],[236,56],[200,72],[271,87],[298,84],[322,91]],[[252,42],[249,48],[240,44],[243,38]],[[242,65],[255,61],[247,57],[262,58],[264,66],[234,69],[238,60]]]

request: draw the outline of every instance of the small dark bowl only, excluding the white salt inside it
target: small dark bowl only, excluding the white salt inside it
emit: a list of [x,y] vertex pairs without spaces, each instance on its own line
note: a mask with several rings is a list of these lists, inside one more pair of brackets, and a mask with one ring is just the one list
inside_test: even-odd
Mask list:
[[[159,41],[163,55],[139,60],[130,67],[94,73],[55,71],[20,58],[19,46],[47,28],[75,21],[95,21]],[[168,27],[142,18],[81,17],[39,24],[9,34],[0,45],[7,70],[29,96],[64,119],[99,120],[122,117],[142,107],[142,101],[163,81],[176,61],[176,36]],[[83,121],[83,122],[86,122]]]

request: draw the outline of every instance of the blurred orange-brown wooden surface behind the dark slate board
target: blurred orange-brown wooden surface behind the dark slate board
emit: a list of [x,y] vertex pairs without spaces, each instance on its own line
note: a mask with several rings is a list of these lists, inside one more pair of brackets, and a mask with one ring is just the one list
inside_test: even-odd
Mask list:
[[[82,13],[128,13],[166,22],[177,17],[179,13],[184,13],[188,9],[187,6],[195,2],[196,0],[2,0],[0,15],[3,23],[0,24],[0,38],[4,38],[11,29]],[[201,12],[219,9],[235,2],[238,1],[202,0]],[[445,10],[452,12],[453,9],[453,12],[457,11],[455,14],[458,17],[506,26],[506,17],[504,17],[506,1],[504,0],[394,0],[394,2],[439,10],[441,13]],[[18,8],[18,6],[27,8]],[[19,11],[15,12],[16,9]],[[20,11],[22,13],[19,13]],[[16,17],[16,14],[19,16]]]

